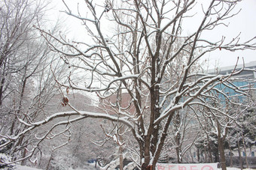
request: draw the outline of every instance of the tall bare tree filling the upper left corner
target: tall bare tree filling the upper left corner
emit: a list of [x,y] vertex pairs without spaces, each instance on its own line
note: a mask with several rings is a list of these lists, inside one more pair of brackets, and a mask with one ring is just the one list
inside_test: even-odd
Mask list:
[[45,4],[37,4],[28,0],[5,0],[0,2],[1,27],[1,87],[0,104],[8,91],[8,76],[23,69],[22,52],[26,53],[26,43],[35,39],[38,34],[32,31],[32,25],[41,20]]

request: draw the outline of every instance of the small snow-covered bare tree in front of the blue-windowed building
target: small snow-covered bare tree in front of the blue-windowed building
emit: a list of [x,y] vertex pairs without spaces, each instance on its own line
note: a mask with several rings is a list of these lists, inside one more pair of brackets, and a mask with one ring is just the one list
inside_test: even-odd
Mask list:
[[[211,107],[204,108],[201,107],[200,112],[197,112],[197,116],[204,121],[200,121],[200,125],[203,129],[203,132],[206,136],[201,139],[200,145],[198,147],[202,147],[203,145],[208,145],[209,143],[215,144],[215,147],[218,148],[217,154],[219,154],[220,162],[223,164],[221,167],[226,166],[226,158],[224,154],[224,149],[228,148],[228,143],[233,141],[234,133],[236,129],[242,129],[242,124],[245,121],[241,121],[244,119],[244,116],[248,117],[247,109],[254,105],[253,102],[250,102],[252,99],[251,95],[239,94],[236,90],[231,88],[233,85],[238,84],[238,82],[243,82],[243,86],[239,87],[250,89],[253,87],[253,83],[249,83],[251,80],[238,79],[236,77],[230,77],[227,82],[223,82],[227,86],[217,85],[215,86],[218,91],[228,91],[227,94],[230,95],[229,101],[223,96],[223,94],[211,94],[215,96],[214,98],[206,98],[206,103],[212,105]],[[251,91],[250,94],[254,94]],[[240,103],[237,105],[237,103]],[[239,139],[241,133],[235,137],[235,139]],[[213,147],[214,145],[212,145]],[[230,145],[230,147],[233,147]],[[212,149],[209,149],[212,151]]]

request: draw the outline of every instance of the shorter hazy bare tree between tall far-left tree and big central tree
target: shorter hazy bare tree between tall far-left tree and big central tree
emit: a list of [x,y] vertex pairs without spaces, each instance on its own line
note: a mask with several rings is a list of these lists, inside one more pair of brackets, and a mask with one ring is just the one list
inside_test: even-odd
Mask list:
[[[26,129],[23,121],[32,122],[38,117],[45,117],[45,106],[58,93],[52,73],[59,78],[65,73],[60,65],[62,62],[54,57],[45,43],[37,44],[36,40],[33,40],[33,44],[35,46],[28,46],[28,54],[23,53],[23,69],[11,73],[8,79],[10,93],[3,100],[1,108],[4,122],[1,125],[1,136],[4,138],[23,132]],[[26,145],[33,141],[30,135],[34,136],[32,133],[22,135],[18,140],[11,142],[12,157],[26,157]]]

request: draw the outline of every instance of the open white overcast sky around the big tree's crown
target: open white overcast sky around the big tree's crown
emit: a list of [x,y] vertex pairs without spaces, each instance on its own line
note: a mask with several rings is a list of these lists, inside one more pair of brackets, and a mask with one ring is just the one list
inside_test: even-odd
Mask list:
[[[66,0],[68,5],[71,5],[74,12],[77,11],[77,3],[84,4],[82,0]],[[207,3],[206,0],[198,0],[198,4]],[[209,2],[209,1],[208,1]],[[72,18],[72,16],[67,16],[65,13],[59,13],[59,10],[66,9],[62,0],[53,0],[53,4],[56,7],[53,8],[51,18],[56,19],[58,16],[65,21],[62,23],[66,28],[69,29],[69,37],[78,37],[79,39],[86,39],[87,34],[84,34],[83,28],[81,28],[81,22],[78,19]],[[83,9],[83,7],[81,7]],[[201,10],[201,7],[198,8]],[[228,38],[236,37],[236,35],[241,32],[241,43],[242,40],[248,40],[250,37],[256,36],[256,0],[242,0],[236,6],[236,11],[242,9],[241,12],[229,20],[228,27],[222,26],[215,31],[209,31],[206,37],[216,38],[225,36]],[[196,9],[197,10],[197,9]],[[53,19],[53,20],[54,20]],[[200,22],[200,21],[199,21]],[[187,28],[184,28],[184,32],[190,34],[194,28],[197,27],[197,21],[187,22]],[[190,31],[191,30],[191,31]],[[256,40],[254,40],[255,42]],[[237,57],[239,57],[239,64],[242,64],[242,58],[244,58],[245,63],[250,61],[256,61],[256,51],[246,50],[246,51],[236,51],[227,52],[225,50],[211,52],[206,54],[205,58],[209,61],[209,68],[214,67],[225,67],[236,64]]]

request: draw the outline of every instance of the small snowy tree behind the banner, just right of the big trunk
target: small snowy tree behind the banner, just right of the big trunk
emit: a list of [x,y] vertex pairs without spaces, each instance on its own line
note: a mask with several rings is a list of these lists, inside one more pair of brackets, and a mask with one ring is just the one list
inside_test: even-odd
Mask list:
[[189,151],[194,148],[196,139],[200,138],[200,126],[191,112],[188,107],[185,107],[182,111],[175,113],[160,160],[171,159],[174,163],[193,162]]

